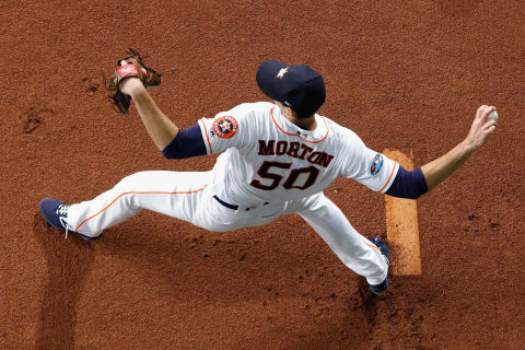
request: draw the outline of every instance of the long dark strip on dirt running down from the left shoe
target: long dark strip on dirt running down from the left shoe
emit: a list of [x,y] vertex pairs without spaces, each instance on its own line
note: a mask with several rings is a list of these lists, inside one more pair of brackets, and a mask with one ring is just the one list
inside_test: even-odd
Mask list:
[[93,247],[74,235],[65,240],[40,213],[35,214],[33,233],[44,250],[48,273],[35,348],[73,349],[77,304],[94,260]]

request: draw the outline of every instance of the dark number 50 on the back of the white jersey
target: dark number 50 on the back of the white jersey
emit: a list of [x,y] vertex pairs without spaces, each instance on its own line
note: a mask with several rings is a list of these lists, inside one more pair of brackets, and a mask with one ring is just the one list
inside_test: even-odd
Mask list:
[[[264,190],[272,190],[279,186],[281,183],[283,176],[280,174],[271,173],[271,167],[277,167],[277,168],[283,168],[283,170],[289,170],[292,166],[292,163],[280,163],[280,162],[269,162],[265,161],[260,167],[257,174],[261,178],[266,178],[271,180],[271,184],[269,185],[264,185],[260,183],[258,179],[253,179],[252,183],[249,183],[250,186],[254,186],[255,188],[258,189],[264,189]],[[302,185],[295,184],[298,182],[298,178],[301,174],[305,174],[307,177],[303,182]],[[290,171],[290,175],[288,175],[287,179],[282,184],[282,187],[285,189],[292,189],[292,188],[298,188],[298,189],[306,189],[310,186],[314,185],[315,180],[317,179],[317,175],[319,175],[319,170],[315,166],[307,166],[307,167],[300,167],[300,168],[293,168]]]

